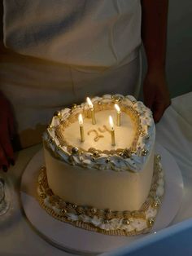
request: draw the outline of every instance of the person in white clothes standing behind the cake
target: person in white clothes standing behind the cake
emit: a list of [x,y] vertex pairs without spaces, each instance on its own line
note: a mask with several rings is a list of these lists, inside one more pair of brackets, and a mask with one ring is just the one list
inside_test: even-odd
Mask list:
[[[3,1],[0,169],[14,164],[11,139],[41,142],[50,117],[86,96],[138,96],[159,121],[170,104],[165,77],[168,0]],[[16,129],[15,129],[16,124]]]

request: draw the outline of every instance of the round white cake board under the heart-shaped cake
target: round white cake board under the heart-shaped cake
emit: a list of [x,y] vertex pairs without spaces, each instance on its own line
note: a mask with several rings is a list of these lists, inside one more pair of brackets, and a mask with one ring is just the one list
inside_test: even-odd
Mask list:
[[[156,144],[155,152],[162,157],[165,176],[165,193],[163,203],[155,219],[151,233],[167,227],[181,206],[183,180],[181,171],[172,155],[162,146]],[[42,149],[28,163],[21,180],[20,197],[24,213],[37,233],[50,244],[73,254],[101,254],[129,245],[146,235],[107,236],[90,232],[71,224],[63,223],[46,213],[36,199],[37,175],[44,164]]]

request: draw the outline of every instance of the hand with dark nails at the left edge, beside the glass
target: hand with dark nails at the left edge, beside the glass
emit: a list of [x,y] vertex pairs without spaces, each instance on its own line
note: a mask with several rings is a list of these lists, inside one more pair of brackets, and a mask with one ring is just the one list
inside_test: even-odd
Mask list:
[[14,165],[15,158],[11,138],[15,135],[14,118],[11,105],[0,92],[0,170],[7,171]]

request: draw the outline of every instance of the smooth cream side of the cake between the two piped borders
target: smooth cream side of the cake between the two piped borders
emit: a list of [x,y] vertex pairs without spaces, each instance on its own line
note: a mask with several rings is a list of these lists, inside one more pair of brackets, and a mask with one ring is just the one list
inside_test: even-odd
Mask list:
[[139,210],[151,188],[154,149],[139,173],[86,169],[52,157],[44,148],[49,187],[65,201],[111,210]]

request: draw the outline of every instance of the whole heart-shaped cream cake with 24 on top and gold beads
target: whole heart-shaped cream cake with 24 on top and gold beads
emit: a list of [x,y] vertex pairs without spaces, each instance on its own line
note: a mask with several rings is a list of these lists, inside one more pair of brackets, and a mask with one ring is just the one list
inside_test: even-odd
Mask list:
[[64,108],[47,127],[43,150],[37,195],[54,218],[108,235],[150,231],[164,172],[152,113],[141,101],[103,95]]

